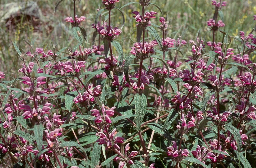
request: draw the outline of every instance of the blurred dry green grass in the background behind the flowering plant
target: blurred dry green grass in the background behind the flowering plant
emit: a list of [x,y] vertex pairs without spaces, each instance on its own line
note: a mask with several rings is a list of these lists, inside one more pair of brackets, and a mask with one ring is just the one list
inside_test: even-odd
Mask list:
[[[0,0],[0,7],[8,3],[8,0]],[[23,2],[23,1],[13,1]],[[31,47],[24,41],[27,40],[33,48],[43,47],[46,50],[52,49],[51,43],[57,45],[57,49],[68,47],[72,49],[77,41],[73,38],[71,32],[71,25],[64,22],[67,16],[73,16],[73,1],[64,0],[54,13],[54,7],[57,0],[36,0],[38,6],[42,10],[43,19],[37,27],[33,27],[31,22],[20,21],[16,28],[9,29],[4,24],[0,25],[0,71],[6,73],[7,79],[17,76],[17,71],[21,68],[21,60],[18,59],[17,53],[12,45],[15,42],[18,47],[27,52]],[[97,3],[96,3],[97,2]],[[94,29],[91,24],[94,23],[94,18],[97,13],[97,8],[103,8],[101,0],[82,0],[77,1],[77,15],[87,17],[87,21],[82,23],[82,26],[87,30],[89,44],[87,48],[91,47],[92,34]],[[132,2],[132,0],[120,0],[116,7],[121,7],[124,4]],[[212,38],[212,33],[207,27],[206,22],[213,17],[214,8],[211,5],[211,0],[152,0],[151,3],[157,4],[163,11],[165,16],[168,13],[168,20],[170,20],[168,30],[168,37],[180,37],[187,42],[190,39],[195,39],[195,34],[198,29],[201,29],[201,36],[204,41],[209,41]],[[123,8],[125,14],[125,26],[123,27],[122,35],[118,40],[122,41],[121,45],[125,54],[129,54],[130,47],[136,40],[136,26],[135,20],[132,17],[133,11],[141,11],[137,4]],[[158,24],[158,17],[161,16],[157,7],[150,5],[146,7],[146,11],[158,12],[156,19],[153,19],[154,24]],[[224,14],[224,31],[230,36],[239,35],[239,31],[249,33],[256,25],[253,21],[253,15],[256,14],[256,4],[253,1],[232,0],[228,1],[226,7],[222,9]],[[1,17],[1,16],[0,16]],[[118,27],[122,24],[122,16],[118,10],[113,10],[112,24]],[[221,41],[223,35],[218,33],[217,41]],[[229,47],[235,48],[233,43]],[[189,56],[190,48],[185,56]],[[255,57],[255,56],[254,56]],[[255,58],[254,58],[255,59]],[[27,59],[28,60],[28,59]]]

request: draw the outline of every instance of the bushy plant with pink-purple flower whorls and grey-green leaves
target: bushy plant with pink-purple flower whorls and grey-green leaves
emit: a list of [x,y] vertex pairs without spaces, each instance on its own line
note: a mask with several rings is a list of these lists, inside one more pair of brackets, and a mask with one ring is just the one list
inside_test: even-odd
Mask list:
[[[240,38],[228,35],[221,30],[228,4],[212,1],[214,14],[205,23],[212,40],[206,42],[200,30],[194,40],[184,40],[168,33],[167,14],[153,24],[159,14],[148,6],[162,11],[150,0],[120,8],[117,2],[102,0],[92,46],[81,26],[86,17],[76,15],[76,0],[74,16],[65,18],[77,40],[72,50],[31,45],[23,53],[13,43],[22,67],[11,81],[3,81],[7,72],[0,72],[1,164],[252,167],[254,30],[240,31]],[[113,25],[112,11],[120,12],[124,24],[122,9],[132,4],[139,6],[132,12],[136,42],[124,51],[126,44],[117,37],[132,35]]]

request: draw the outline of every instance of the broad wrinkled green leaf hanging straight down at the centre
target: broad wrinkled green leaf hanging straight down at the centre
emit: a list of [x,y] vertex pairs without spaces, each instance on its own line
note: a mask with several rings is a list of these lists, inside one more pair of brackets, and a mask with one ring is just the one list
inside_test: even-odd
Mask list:
[[137,130],[140,130],[140,126],[143,123],[143,118],[146,113],[146,107],[147,107],[147,97],[142,94],[139,95],[138,93],[134,96],[135,101],[135,124],[137,127]]

